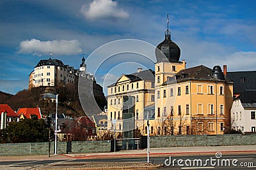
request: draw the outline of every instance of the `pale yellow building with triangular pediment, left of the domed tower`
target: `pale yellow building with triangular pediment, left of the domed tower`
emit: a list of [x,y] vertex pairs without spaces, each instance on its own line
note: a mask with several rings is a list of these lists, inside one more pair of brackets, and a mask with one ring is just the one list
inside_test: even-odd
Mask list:
[[[122,132],[124,125],[124,97],[134,97],[134,126],[143,128],[144,108],[154,104],[154,74],[152,69],[138,69],[136,73],[123,74],[115,83],[108,86],[108,129]],[[115,126],[113,120],[116,120]],[[142,129],[141,129],[142,130]]]

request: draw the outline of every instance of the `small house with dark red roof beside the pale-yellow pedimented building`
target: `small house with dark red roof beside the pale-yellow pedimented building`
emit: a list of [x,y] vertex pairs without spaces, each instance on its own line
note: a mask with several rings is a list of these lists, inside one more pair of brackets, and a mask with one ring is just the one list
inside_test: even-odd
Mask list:
[[96,136],[96,127],[95,124],[90,118],[86,117],[79,117],[75,120],[79,127],[84,128],[86,132],[88,132],[89,136]]

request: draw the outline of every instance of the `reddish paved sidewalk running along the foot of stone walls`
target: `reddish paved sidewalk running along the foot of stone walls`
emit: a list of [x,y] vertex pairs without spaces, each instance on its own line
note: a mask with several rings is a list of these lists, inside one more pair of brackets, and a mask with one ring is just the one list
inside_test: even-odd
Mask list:
[[[215,155],[221,152],[223,155],[251,153],[256,154],[256,145],[244,146],[198,146],[198,147],[173,147],[150,148],[150,157],[164,157],[177,155]],[[147,157],[147,149],[121,150],[109,153],[71,153],[60,155],[27,155],[27,156],[1,156],[0,161],[10,160],[64,160],[64,159],[111,159],[122,157]]]

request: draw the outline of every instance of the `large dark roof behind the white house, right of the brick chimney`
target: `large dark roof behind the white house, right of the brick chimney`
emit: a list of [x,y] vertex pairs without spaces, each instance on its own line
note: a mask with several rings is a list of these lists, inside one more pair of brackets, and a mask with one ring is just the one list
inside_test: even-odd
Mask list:
[[241,94],[245,90],[256,90],[256,71],[227,72],[227,77],[234,82],[234,94]]

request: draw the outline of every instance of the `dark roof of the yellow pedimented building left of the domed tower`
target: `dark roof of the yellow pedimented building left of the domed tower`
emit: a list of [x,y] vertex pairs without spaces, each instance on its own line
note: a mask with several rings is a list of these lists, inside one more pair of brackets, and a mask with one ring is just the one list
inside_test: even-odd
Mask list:
[[[140,81],[140,80],[155,80],[155,71],[153,71],[152,69],[146,69],[144,71],[140,71],[132,74],[124,74],[124,75],[127,78],[129,78],[131,82]],[[118,80],[115,83],[109,85],[108,87],[114,87],[118,82]]]

